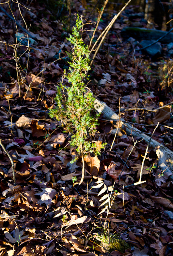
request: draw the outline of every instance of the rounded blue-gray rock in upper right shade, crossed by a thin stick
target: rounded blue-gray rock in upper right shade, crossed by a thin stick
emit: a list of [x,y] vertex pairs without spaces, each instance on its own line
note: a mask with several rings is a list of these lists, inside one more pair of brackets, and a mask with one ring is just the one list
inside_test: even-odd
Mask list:
[[[154,42],[154,40],[142,40],[140,42],[140,47],[141,48],[146,47],[153,42]],[[162,53],[162,46],[161,46],[161,43],[157,42],[142,51],[145,54],[148,54],[150,57],[157,57],[157,56],[161,55],[161,53]]]

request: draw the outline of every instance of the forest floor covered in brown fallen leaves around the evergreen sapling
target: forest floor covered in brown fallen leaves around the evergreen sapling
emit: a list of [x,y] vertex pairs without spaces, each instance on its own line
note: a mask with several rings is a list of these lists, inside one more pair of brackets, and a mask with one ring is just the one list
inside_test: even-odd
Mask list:
[[[170,173],[159,168],[155,149],[149,147],[144,162],[142,180],[146,182],[126,187],[139,180],[147,148],[140,133],[133,138],[117,129],[116,121],[101,115],[96,134],[88,139],[102,139],[107,144],[101,156],[86,158],[87,176],[77,184],[81,159],[70,163],[76,153],[70,147],[70,136],[48,113],[55,106],[63,70],[69,66],[66,52],[71,52],[71,46],[66,37],[75,25],[73,13],[79,10],[79,15],[94,22],[101,6],[74,1],[69,21],[66,6],[48,2],[31,1],[30,6],[25,5],[30,11],[19,5],[35,36],[29,42],[30,51],[24,46],[26,36],[18,45],[14,43],[16,27],[7,13],[13,13],[25,27],[17,3],[10,5],[12,13],[8,4],[3,5],[6,12],[0,12],[0,139],[14,162],[17,183],[14,186],[11,161],[0,147],[0,256],[172,256],[173,182]],[[115,7],[105,8],[98,30],[109,24],[117,13]],[[173,101],[173,62],[166,44],[162,55],[151,59],[134,50],[138,47],[135,39],[121,36],[121,30],[133,22],[147,28],[139,17],[130,21],[136,8],[129,5],[107,34],[88,73],[87,86],[142,133],[151,136],[160,122],[152,139],[173,150],[172,105],[156,113],[138,110],[154,110]],[[84,27],[86,45],[94,27]],[[18,27],[19,38],[22,33]],[[139,142],[133,148],[135,141]],[[105,205],[99,208],[102,196],[109,198],[108,211],[102,211]]]

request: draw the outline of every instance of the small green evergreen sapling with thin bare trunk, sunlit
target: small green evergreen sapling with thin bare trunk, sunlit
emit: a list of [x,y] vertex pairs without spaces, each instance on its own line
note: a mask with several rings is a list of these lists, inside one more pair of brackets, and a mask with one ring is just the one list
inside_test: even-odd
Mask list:
[[[64,71],[64,77],[70,83],[67,86],[62,82],[57,86],[55,101],[56,109],[50,110],[50,117],[55,117],[61,121],[62,127],[72,134],[71,146],[76,147],[76,151],[82,156],[82,178],[84,180],[84,156],[89,152],[100,154],[103,147],[101,141],[90,141],[88,133],[94,131],[99,114],[95,114],[95,99],[92,92],[87,88],[85,80],[89,66],[88,46],[85,46],[79,32],[82,27],[82,20],[77,13],[76,27],[72,29],[72,35],[67,38],[72,45],[72,52],[68,53],[70,58],[69,72]],[[72,162],[76,161],[76,157]]]

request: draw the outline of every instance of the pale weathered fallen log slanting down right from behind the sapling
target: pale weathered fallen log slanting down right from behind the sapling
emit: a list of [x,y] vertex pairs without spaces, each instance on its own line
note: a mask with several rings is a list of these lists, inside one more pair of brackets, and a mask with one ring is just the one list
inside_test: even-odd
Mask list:
[[[111,108],[109,108],[104,102],[96,99],[95,103],[98,106],[97,111],[103,114],[103,118],[119,121],[119,116],[115,112],[113,112]],[[122,118],[120,118],[120,122],[122,128],[126,131],[128,135],[140,137],[143,138],[146,142],[149,142],[150,137],[148,135],[141,133],[137,128],[132,127],[132,125],[129,123],[126,123],[125,120]],[[151,139],[149,146],[157,148],[156,154],[158,157],[158,166],[162,170],[162,172],[173,173],[173,152],[154,139]],[[169,180],[173,181],[173,174],[169,176]]]

